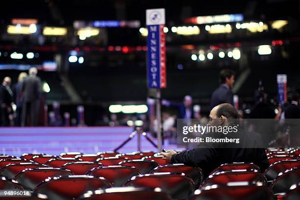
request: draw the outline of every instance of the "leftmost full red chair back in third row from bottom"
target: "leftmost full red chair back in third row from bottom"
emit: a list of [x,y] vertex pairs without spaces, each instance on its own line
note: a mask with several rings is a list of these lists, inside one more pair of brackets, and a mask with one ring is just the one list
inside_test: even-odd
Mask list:
[[60,168],[34,168],[27,169],[14,177],[25,189],[33,190],[39,183],[48,177],[73,175],[70,170]]

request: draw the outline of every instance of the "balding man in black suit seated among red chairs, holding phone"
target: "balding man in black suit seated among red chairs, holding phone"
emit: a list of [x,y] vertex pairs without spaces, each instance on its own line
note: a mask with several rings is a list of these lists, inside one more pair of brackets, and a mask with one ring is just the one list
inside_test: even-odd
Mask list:
[[[209,126],[236,126],[238,112],[235,107],[229,103],[223,103],[215,106],[209,115]],[[229,129],[229,128],[228,128]],[[265,148],[263,148],[260,134],[248,132],[238,128],[237,132],[223,133],[217,135],[218,138],[239,138],[238,144],[211,144],[200,143],[192,150],[182,153],[176,153],[174,150],[168,150],[167,153],[161,152],[164,159],[172,164],[183,163],[189,166],[197,166],[202,169],[204,178],[221,164],[233,162],[254,163],[259,166],[261,172],[264,172],[269,166]],[[207,133],[205,136],[215,135]]]

